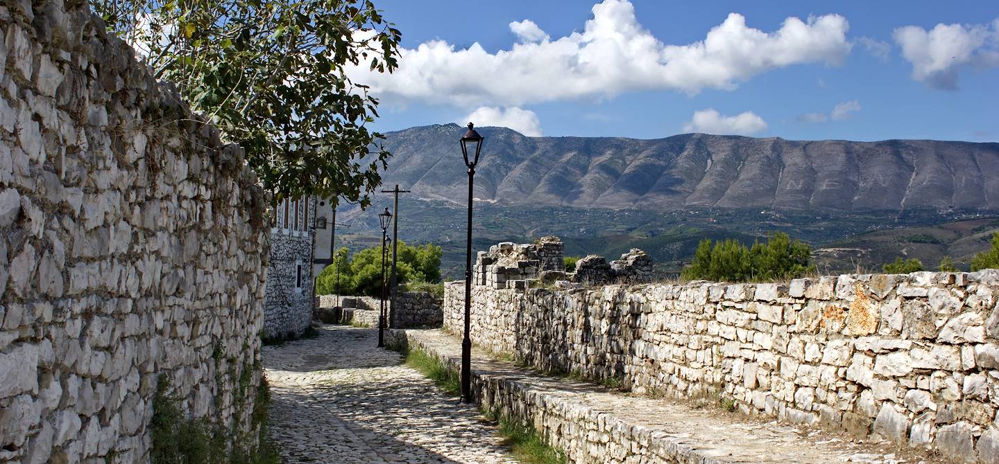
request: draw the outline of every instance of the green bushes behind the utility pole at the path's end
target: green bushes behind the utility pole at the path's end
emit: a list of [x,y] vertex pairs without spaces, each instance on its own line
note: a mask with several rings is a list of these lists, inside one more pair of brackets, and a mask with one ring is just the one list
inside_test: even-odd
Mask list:
[[[397,250],[397,279],[400,284],[408,282],[431,282],[441,280],[441,246],[433,243],[409,245],[400,240]],[[389,248],[387,261],[392,264],[392,248]],[[337,285],[337,269],[340,269],[340,285]],[[354,253],[348,259],[347,248],[337,250],[334,261],[323,268],[316,277],[317,294],[347,294],[379,296],[382,291],[382,245],[372,246]]]

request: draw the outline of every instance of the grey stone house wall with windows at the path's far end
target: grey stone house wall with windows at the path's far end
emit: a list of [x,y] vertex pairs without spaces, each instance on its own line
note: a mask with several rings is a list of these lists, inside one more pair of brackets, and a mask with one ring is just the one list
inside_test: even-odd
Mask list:
[[311,323],[316,203],[313,198],[286,200],[276,208],[264,302],[266,337],[297,337]]

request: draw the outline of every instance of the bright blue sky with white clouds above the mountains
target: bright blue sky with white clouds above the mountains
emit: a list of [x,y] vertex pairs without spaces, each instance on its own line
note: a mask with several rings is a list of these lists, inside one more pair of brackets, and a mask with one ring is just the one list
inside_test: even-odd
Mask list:
[[383,132],[999,141],[996,1],[376,4],[402,68],[352,76]]

